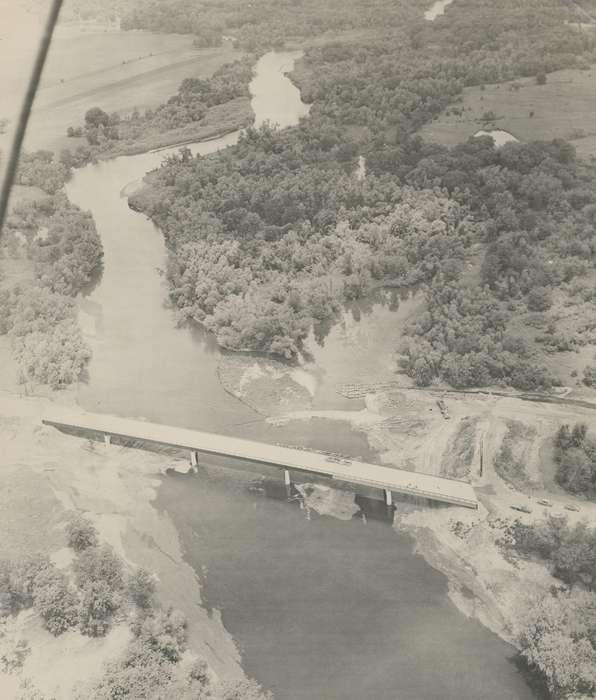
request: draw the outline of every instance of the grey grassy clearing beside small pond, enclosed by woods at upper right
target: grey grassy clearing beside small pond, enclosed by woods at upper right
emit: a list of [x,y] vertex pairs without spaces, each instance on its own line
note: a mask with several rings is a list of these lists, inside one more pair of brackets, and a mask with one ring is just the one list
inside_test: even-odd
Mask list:
[[[462,114],[454,113],[462,108]],[[548,75],[546,85],[534,78],[466,88],[463,102],[448,107],[420,131],[423,138],[453,146],[486,127],[485,112],[494,112],[492,128],[520,141],[567,138],[584,157],[596,157],[596,67]],[[532,115],[532,116],[530,116]]]

